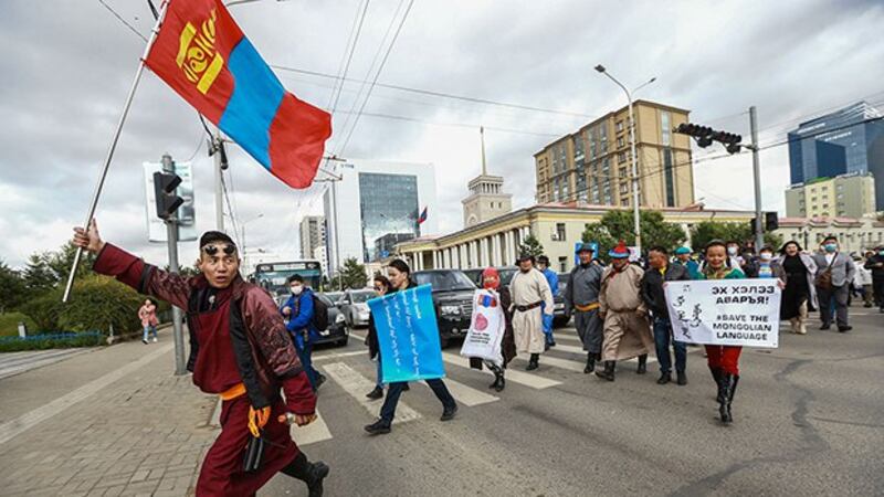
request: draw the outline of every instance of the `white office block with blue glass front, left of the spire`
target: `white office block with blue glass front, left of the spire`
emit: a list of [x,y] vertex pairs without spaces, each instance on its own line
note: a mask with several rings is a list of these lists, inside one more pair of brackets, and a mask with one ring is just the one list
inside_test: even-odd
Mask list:
[[[417,237],[436,232],[432,165],[351,160],[336,175],[341,180],[334,181],[323,199],[329,264],[337,266],[349,257],[376,261],[382,252],[378,241],[391,233]],[[420,223],[424,209],[427,220]]]

